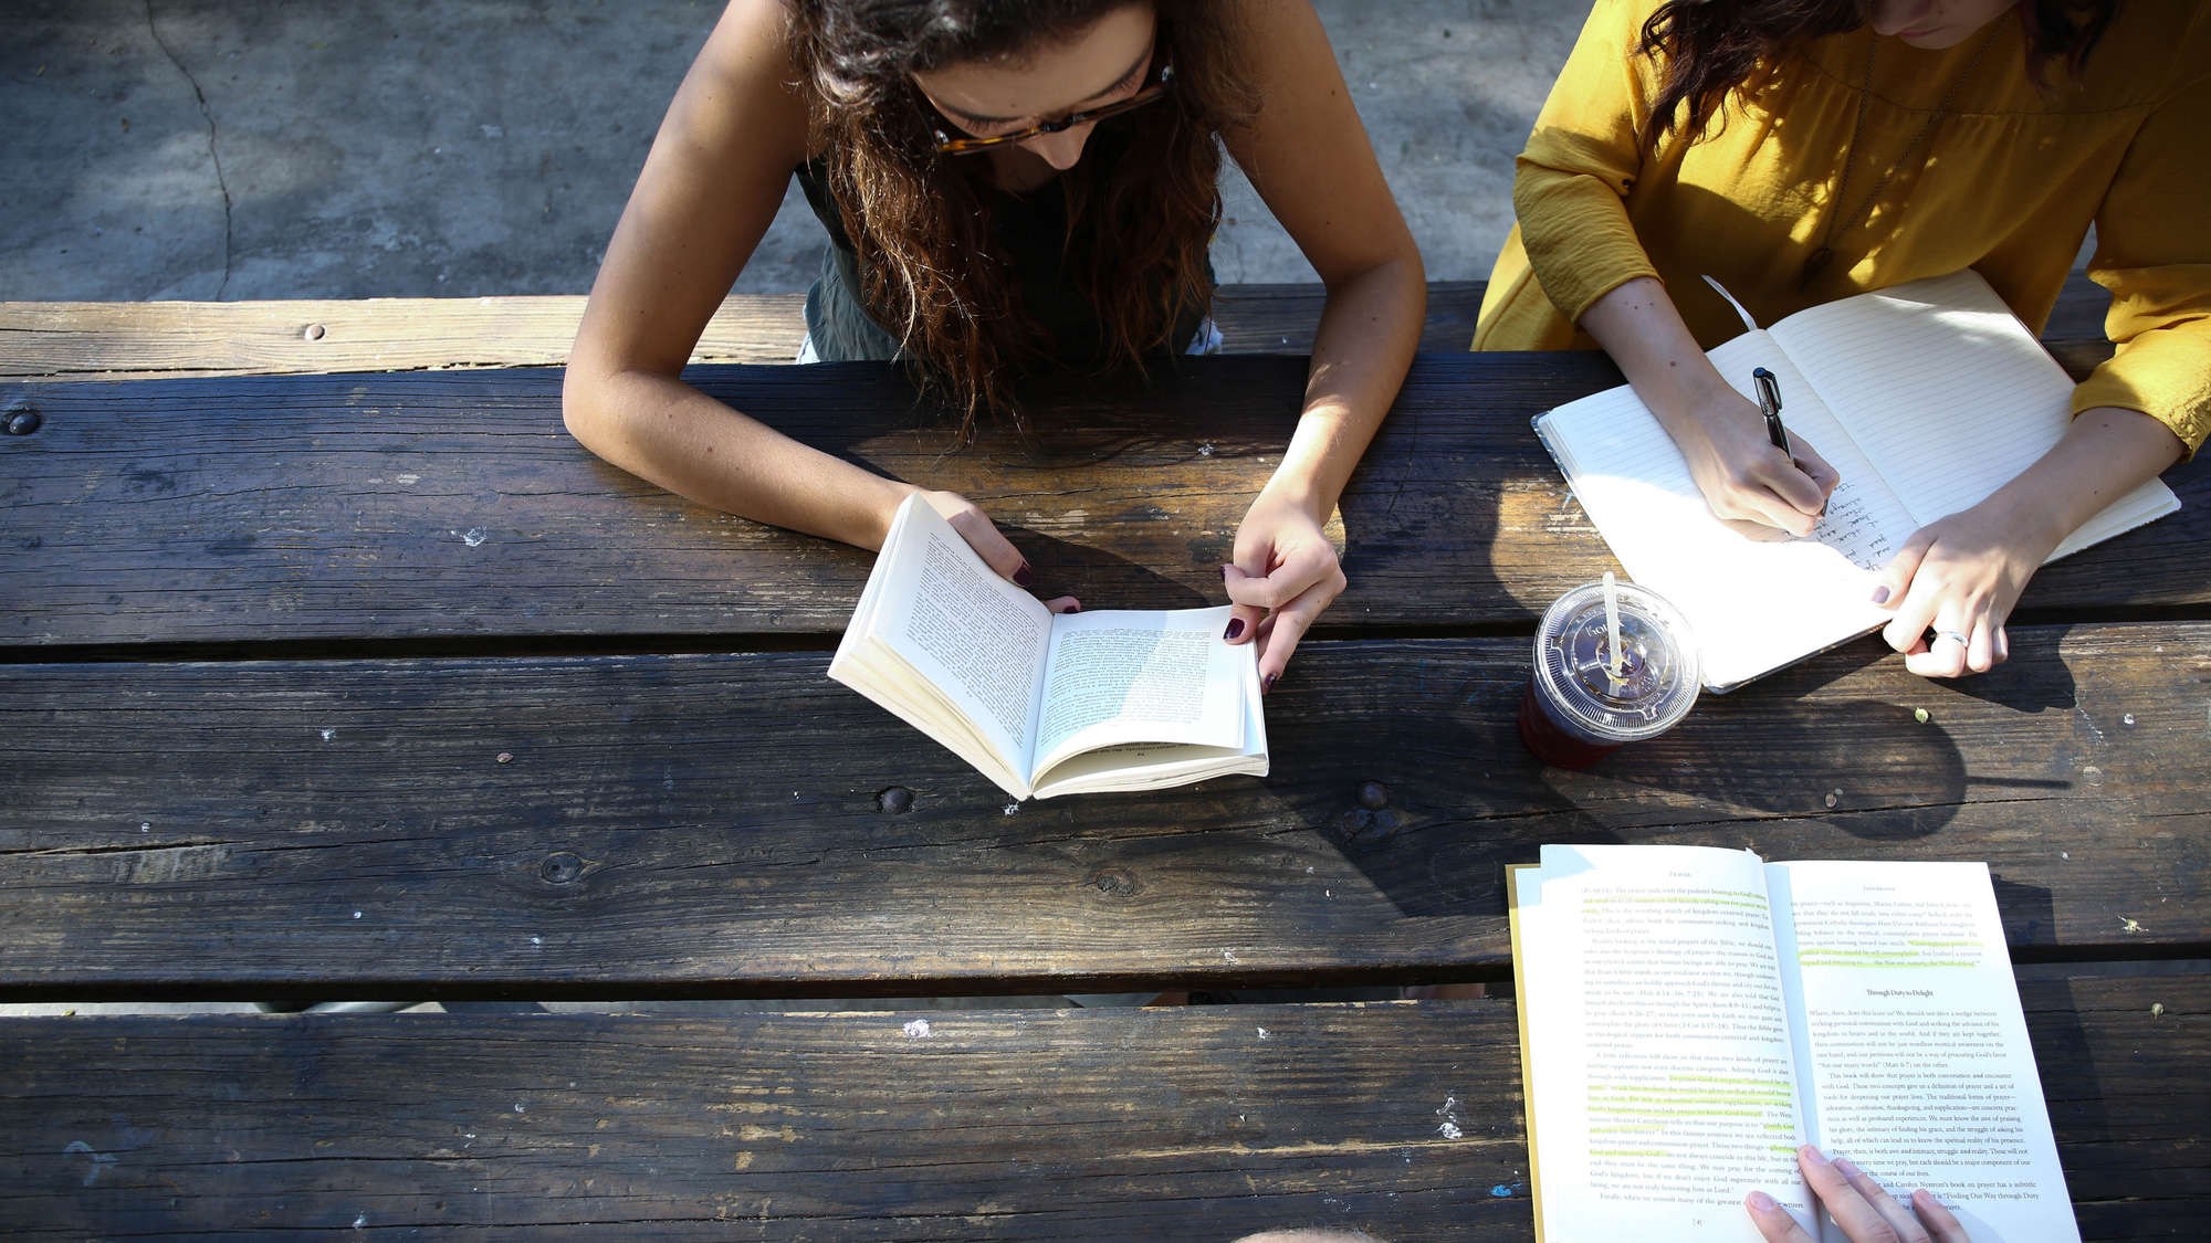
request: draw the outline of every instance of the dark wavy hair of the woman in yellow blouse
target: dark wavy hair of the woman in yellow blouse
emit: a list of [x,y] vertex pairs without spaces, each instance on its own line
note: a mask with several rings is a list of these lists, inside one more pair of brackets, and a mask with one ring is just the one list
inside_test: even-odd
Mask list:
[[[2045,80],[2054,62],[2072,75],[2087,64],[2120,0],[2019,0],[2027,73]],[[1855,31],[1873,20],[1873,0],[1667,0],[1643,22],[1636,51],[1663,66],[1652,102],[1649,148],[1680,126],[1689,139],[1722,119],[1729,93],[1756,86],[1780,55],[1802,42]]]

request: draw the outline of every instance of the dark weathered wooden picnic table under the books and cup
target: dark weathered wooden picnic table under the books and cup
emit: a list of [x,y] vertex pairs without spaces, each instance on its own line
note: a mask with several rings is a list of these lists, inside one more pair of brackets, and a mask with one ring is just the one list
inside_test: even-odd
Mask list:
[[[1021,805],[822,677],[865,553],[606,467],[555,369],[237,347],[345,365],[374,323],[425,367],[391,345],[420,307],[0,307],[0,1002],[794,1000],[4,1017],[0,1234],[1530,1239],[1510,989],[1313,991],[1503,984],[1503,867],[1616,840],[1988,860],[2083,1234],[2200,1236],[2211,478],[2039,575],[1994,675],[1864,639],[1548,770],[1528,635],[1612,560],[1528,418],[1618,376],[1455,352],[1468,290],[1344,495],[1271,776]],[[1209,604],[1313,301],[1232,292],[1232,341],[1291,354],[1068,387],[964,451],[884,367],[692,378],[964,491],[1048,591]],[[792,307],[738,312],[780,341]],[[551,361],[486,332],[444,361]],[[849,1009],[1152,989],[1285,993]]]

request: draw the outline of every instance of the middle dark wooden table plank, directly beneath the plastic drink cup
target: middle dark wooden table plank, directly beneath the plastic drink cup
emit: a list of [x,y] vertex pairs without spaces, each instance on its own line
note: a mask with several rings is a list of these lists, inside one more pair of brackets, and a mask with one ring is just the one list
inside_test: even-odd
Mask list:
[[0,993],[1479,978],[1557,840],[1988,860],[2021,958],[2211,927],[2211,624],[2019,628],[1957,686],[1868,639],[1587,772],[1521,750],[1523,644],[1316,641],[1271,776],[1026,805],[818,652],[0,666]]

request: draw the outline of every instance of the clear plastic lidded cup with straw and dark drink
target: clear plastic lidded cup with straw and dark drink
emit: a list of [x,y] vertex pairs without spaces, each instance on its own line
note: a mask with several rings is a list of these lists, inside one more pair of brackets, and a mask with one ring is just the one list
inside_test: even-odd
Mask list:
[[1601,582],[1561,595],[1537,626],[1519,734],[1548,765],[1587,767],[1672,730],[1696,703],[1696,639],[1680,610],[1636,584],[1614,591],[1616,652]]

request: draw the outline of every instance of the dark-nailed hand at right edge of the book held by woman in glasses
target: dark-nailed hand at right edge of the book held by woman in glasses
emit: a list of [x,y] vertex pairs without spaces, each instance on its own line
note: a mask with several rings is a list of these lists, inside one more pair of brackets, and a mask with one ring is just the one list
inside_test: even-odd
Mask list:
[[1344,591],[1322,520],[1311,506],[1271,487],[1258,493],[1236,529],[1236,562],[1220,566],[1229,602],[1227,641],[1258,641],[1260,688],[1274,688],[1289,652],[1320,610]]

